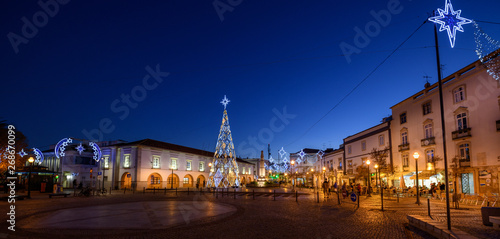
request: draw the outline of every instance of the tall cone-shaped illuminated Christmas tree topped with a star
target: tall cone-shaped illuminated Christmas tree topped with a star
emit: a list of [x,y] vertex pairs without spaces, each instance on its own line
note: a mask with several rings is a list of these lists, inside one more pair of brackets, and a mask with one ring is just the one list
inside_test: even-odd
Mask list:
[[224,96],[221,103],[224,105],[224,114],[222,115],[222,124],[220,126],[219,137],[217,138],[214,159],[210,165],[208,186],[227,188],[234,185],[239,186],[240,177],[238,175],[233,137],[231,136],[229,119],[227,117],[226,106],[229,100],[226,96]]

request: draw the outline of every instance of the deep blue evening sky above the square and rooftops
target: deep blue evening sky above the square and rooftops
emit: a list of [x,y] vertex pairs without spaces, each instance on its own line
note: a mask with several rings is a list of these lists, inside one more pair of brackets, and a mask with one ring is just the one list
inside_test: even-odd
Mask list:
[[[104,140],[152,138],[214,150],[224,95],[237,154],[258,156],[248,137],[269,128],[273,109],[296,115],[273,133],[273,153],[304,147],[337,148],[342,139],[374,126],[390,106],[436,82],[433,25],[425,24],[400,51],[312,130],[306,130],[406,39],[444,0],[401,0],[403,10],[348,63],[339,47],[353,44],[370,11],[389,1],[248,1],[223,14],[212,1],[70,1],[16,54],[7,37],[22,35],[42,8],[35,1],[0,2],[2,81],[0,117],[46,149],[109,118]],[[221,0],[226,3],[226,1]],[[500,22],[499,1],[454,0],[475,20]],[[227,3],[226,3],[227,4]],[[500,25],[480,23],[500,39]],[[474,27],[465,25],[451,49],[439,34],[448,75],[477,60]],[[142,84],[146,66],[170,72],[147,91],[125,119],[111,103]],[[153,81],[151,81],[153,83]],[[123,106],[120,103],[118,106]],[[280,121],[277,121],[277,126]],[[243,144],[243,146],[241,146]],[[240,149],[240,150],[238,150]],[[244,150],[241,150],[244,149]],[[255,149],[257,151],[260,149]]]

